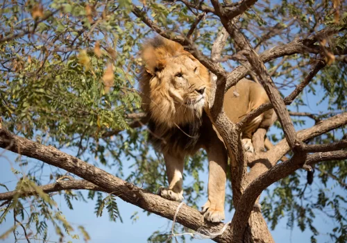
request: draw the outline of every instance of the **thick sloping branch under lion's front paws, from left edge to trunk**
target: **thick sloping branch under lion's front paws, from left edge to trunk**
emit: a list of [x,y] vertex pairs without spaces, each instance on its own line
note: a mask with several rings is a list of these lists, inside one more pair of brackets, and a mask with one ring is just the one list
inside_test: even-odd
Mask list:
[[[153,212],[167,219],[173,219],[178,202],[169,201],[158,195],[152,194],[135,185],[109,174],[102,169],[79,160],[74,156],[59,151],[53,146],[44,146],[27,140],[24,137],[13,135],[0,124],[0,147],[8,149],[14,153],[19,153],[30,158],[41,160],[49,165],[65,169],[76,176],[90,181],[96,186],[103,188],[106,192],[112,192],[116,196],[128,203],[132,203],[146,211]],[[68,182],[66,182],[68,183]],[[176,221],[183,226],[198,230],[198,228],[208,228],[209,231],[217,231],[223,224],[213,224],[205,221],[201,212],[182,206],[176,217]],[[227,230],[223,235],[214,238],[217,242],[230,242],[230,231]]]

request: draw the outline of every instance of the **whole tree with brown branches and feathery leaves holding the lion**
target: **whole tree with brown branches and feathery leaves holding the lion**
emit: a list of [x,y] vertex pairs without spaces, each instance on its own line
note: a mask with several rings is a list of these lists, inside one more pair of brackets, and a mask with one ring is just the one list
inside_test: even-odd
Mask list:
[[[142,65],[140,46],[155,33],[182,44],[211,72],[214,87],[205,111],[235,161],[230,165],[232,196],[227,196],[235,214],[227,230],[213,240],[273,242],[266,220],[274,228],[285,212],[288,225],[293,227],[297,221],[302,230],[308,226],[315,242],[319,234],[315,214],[330,207],[334,213],[327,217],[338,223],[330,236],[346,242],[344,196],[310,192],[303,183],[305,170],[315,167],[320,172],[315,180],[322,188],[333,180],[346,190],[346,4],[338,0],[53,0],[0,5],[0,146],[18,153],[18,165],[28,168],[26,174],[14,169],[13,173],[21,174],[17,187],[0,194],[0,224],[10,210],[15,219],[1,238],[22,230],[28,242],[46,239],[47,220],[60,241],[71,235],[73,228],[62,212],[52,208],[53,192],[62,194],[72,208],[73,200],[85,200],[75,190],[89,190],[87,200],[96,200],[96,215],[107,207],[114,221],[119,217],[116,197],[174,218],[179,203],[151,193],[165,183],[164,164],[146,142],[151,131],[140,109],[136,83]],[[263,85],[271,103],[232,124],[221,106],[223,94],[245,76]],[[309,105],[303,90],[313,95],[323,92],[326,112],[302,112]],[[278,115],[276,126],[282,135],[268,136],[277,144],[266,151],[265,131],[258,129],[253,135],[255,153],[244,153],[240,131],[271,108]],[[315,125],[297,131],[294,125],[307,121],[302,117],[313,119]],[[76,153],[61,151],[67,148]],[[289,159],[282,158],[286,154]],[[1,153],[1,157],[3,163],[6,156]],[[122,169],[129,165],[121,158],[134,161],[127,178]],[[204,221],[194,209],[204,195],[197,173],[204,158],[201,152],[186,162],[186,174],[194,177],[194,184],[185,187],[192,207],[183,205],[176,221],[194,231],[217,231],[222,223]],[[118,172],[110,174],[98,164]],[[51,167],[49,184],[42,185],[42,169],[47,166]],[[253,208],[273,183],[276,188],[266,191],[268,196],[260,202],[262,210]],[[29,196],[30,201],[24,200]],[[80,230],[88,240],[85,229]],[[167,236],[150,240],[167,240]]]

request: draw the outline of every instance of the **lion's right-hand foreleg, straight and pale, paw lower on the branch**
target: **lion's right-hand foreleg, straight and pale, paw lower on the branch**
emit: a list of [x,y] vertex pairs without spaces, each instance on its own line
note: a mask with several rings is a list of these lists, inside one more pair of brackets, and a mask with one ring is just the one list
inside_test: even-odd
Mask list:
[[224,144],[211,142],[208,149],[209,176],[208,176],[208,201],[203,206],[205,219],[219,222],[225,218],[224,201],[226,195],[226,167],[228,155]]

